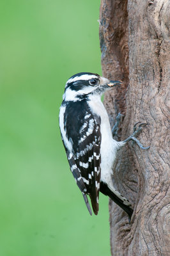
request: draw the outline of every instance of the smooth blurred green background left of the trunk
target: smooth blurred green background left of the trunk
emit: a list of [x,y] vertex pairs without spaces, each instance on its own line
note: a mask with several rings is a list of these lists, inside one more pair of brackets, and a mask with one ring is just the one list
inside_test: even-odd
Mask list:
[[101,74],[100,1],[0,5],[0,255],[110,255],[108,199],[89,216],[58,112],[66,80]]

